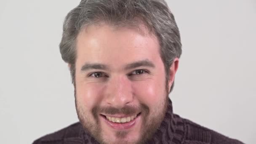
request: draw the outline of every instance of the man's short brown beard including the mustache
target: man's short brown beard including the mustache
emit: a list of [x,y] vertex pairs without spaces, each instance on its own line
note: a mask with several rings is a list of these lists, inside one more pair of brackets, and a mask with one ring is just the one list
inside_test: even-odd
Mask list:
[[[88,115],[86,112],[84,104],[78,101],[76,96],[76,88],[75,88],[75,106],[77,111],[78,119],[80,123],[83,125],[83,128],[88,131],[91,136],[93,136],[96,141],[100,144],[110,144],[113,141],[106,141],[103,139],[103,131],[99,122],[100,113],[115,115],[115,114],[124,114],[124,115],[134,115],[140,112],[142,125],[141,125],[141,134],[139,139],[136,141],[124,141],[126,135],[129,132],[127,131],[118,131],[115,133],[116,138],[119,138],[120,141],[115,141],[115,144],[144,144],[150,139],[160,127],[167,110],[168,105],[168,93],[166,94],[165,99],[159,105],[159,107],[155,107],[155,111],[151,112],[152,110],[146,104],[139,104],[139,106],[125,106],[121,109],[117,109],[115,107],[99,107],[95,106],[91,109],[91,114],[93,117]],[[158,109],[158,110],[157,110]]]

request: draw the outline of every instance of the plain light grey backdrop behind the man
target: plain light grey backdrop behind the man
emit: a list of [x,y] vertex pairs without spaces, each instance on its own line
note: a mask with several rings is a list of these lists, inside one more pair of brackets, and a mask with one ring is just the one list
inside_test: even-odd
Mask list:
[[[62,24],[80,0],[0,0],[0,143],[31,144],[78,121]],[[181,117],[256,144],[256,0],[168,0],[183,53]]]

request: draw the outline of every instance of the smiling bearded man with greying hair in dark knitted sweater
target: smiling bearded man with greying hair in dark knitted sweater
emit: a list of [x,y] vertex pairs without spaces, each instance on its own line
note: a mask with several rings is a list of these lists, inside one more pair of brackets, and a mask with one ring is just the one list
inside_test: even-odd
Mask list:
[[173,114],[181,41],[163,0],[82,0],[60,52],[80,123],[34,144],[242,144]]

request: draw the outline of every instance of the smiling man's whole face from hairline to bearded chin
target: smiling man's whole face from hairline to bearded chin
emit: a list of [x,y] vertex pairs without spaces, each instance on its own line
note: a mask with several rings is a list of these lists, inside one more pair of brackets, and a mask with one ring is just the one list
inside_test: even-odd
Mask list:
[[86,27],[77,37],[75,98],[83,126],[101,143],[139,143],[166,111],[165,69],[144,27]]

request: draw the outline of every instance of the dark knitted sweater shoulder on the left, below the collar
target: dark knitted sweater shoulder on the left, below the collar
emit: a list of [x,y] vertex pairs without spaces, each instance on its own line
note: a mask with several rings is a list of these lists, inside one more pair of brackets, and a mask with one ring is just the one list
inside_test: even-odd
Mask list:
[[79,139],[81,130],[82,125],[77,122],[59,131],[42,136],[32,144],[62,144],[62,142],[67,139]]

